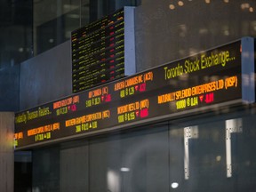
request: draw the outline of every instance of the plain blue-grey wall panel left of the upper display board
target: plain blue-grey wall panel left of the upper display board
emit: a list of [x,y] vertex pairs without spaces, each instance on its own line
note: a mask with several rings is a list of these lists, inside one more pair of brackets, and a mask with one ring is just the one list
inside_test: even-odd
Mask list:
[[20,110],[72,93],[70,41],[20,65]]

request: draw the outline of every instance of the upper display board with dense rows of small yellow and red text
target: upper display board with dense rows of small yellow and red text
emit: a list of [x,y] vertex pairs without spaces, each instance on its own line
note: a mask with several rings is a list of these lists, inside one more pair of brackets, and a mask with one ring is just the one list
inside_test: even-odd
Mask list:
[[[72,32],[73,92],[135,73],[134,60],[125,60],[125,57],[135,58],[131,55],[134,50],[132,10],[132,7],[124,7]],[[124,44],[127,38],[129,44]]]

